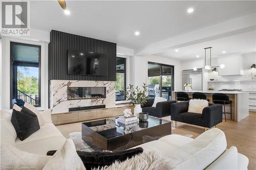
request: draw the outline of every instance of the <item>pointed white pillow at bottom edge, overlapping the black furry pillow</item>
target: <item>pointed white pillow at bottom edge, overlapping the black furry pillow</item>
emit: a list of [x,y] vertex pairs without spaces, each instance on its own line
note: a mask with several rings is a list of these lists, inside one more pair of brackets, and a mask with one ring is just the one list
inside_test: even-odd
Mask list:
[[73,140],[67,139],[63,147],[52,156],[43,169],[86,170],[86,167],[84,167],[82,160],[76,153]]

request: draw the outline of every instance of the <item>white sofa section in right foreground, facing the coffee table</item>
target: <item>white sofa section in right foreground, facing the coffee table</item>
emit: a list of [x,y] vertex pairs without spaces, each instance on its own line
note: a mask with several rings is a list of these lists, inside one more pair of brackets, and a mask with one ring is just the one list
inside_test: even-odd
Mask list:
[[249,163],[236,147],[226,149],[225,134],[217,128],[195,139],[173,134],[137,147],[167,158],[172,169],[247,169]]

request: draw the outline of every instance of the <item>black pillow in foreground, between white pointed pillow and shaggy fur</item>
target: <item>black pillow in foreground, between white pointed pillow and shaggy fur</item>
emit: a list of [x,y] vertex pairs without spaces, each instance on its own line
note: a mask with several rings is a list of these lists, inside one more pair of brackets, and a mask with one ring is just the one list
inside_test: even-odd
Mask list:
[[[47,155],[54,155],[56,151],[48,151]],[[78,156],[81,158],[86,169],[98,168],[103,166],[109,166],[115,161],[125,161],[127,158],[132,158],[143,152],[143,148],[138,147],[130,150],[121,150],[114,152],[83,152],[76,151]]]

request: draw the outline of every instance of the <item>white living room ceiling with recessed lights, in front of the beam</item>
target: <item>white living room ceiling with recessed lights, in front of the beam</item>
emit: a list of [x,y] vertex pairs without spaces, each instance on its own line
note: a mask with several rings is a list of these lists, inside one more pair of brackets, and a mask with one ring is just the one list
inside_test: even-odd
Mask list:
[[[57,0],[31,1],[30,6],[32,29],[58,30],[135,49],[256,11],[256,1],[67,1],[70,16],[63,14]],[[195,9],[193,14],[187,14],[189,7]],[[135,31],[141,35],[136,37]],[[222,50],[211,45],[213,51]],[[195,53],[189,55],[205,46],[193,48]],[[178,58],[185,52],[159,55]]]

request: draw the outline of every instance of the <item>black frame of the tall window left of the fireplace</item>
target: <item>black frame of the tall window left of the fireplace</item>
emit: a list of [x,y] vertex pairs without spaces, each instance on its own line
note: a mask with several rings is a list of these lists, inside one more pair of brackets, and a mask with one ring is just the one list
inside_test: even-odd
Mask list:
[[[10,41],[10,108],[12,109],[12,98],[13,98],[13,64],[12,64],[12,45],[24,45],[24,46],[33,46],[38,47],[38,106],[41,108],[41,45],[28,44],[22,42]],[[23,62],[26,66],[28,63]]]

